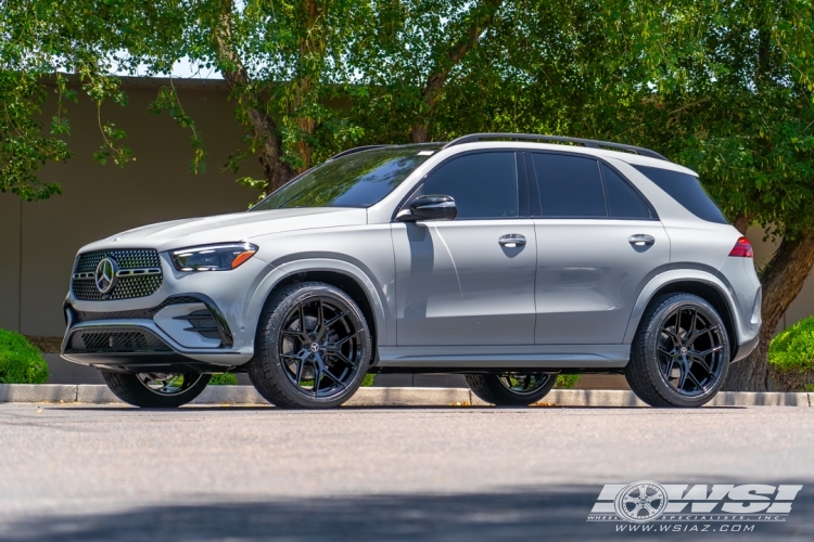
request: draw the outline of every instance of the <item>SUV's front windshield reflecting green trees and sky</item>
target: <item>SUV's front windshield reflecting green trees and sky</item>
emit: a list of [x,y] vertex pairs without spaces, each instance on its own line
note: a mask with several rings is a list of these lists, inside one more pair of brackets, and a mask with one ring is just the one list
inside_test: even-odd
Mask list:
[[252,210],[370,207],[438,149],[438,144],[391,146],[328,160],[285,184]]

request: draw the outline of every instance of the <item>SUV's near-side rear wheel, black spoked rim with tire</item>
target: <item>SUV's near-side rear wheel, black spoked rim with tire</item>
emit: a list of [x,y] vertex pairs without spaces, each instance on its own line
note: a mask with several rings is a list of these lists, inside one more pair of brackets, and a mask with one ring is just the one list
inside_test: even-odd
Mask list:
[[671,294],[645,312],[625,377],[651,406],[701,406],[723,386],[730,351],[726,326],[709,302]]

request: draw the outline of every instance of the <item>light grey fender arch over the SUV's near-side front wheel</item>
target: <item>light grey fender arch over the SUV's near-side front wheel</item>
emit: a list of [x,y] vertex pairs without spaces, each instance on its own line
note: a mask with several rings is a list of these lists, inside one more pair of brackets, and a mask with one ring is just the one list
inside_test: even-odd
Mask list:
[[259,284],[250,304],[249,322],[252,322],[255,333],[259,315],[274,293],[297,282],[323,282],[346,293],[359,306],[368,322],[373,360],[378,360],[377,346],[386,343],[389,332],[382,295],[363,270],[342,260],[298,260],[275,268]]

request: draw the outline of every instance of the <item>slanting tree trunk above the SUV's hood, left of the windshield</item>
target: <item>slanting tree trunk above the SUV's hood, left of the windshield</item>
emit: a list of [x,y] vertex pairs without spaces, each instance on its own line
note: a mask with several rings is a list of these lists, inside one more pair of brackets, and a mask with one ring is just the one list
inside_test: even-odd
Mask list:
[[[232,0],[221,0],[220,25],[215,31],[215,44],[221,63],[226,66],[221,69],[224,79],[229,88],[245,90],[251,87],[251,79],[240,55],[232,47]],[[258,95],[239,93],[238,106],[242,107],[251,124],[254,141],[257,144],[263,172],[268,182],[265,192],[270,193],[289,182],[296,172],[282,162],[282,139],[278,134],[277,124],[264,111],[264,100]]]

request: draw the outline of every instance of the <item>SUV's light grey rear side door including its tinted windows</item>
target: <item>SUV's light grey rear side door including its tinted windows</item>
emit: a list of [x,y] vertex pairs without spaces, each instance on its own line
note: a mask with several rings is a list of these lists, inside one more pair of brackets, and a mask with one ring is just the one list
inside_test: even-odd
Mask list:
[[664,228],[606,163],[565,153],[525,158],[537,181],[536,344],[622,343],[639,292],[670,263]]

